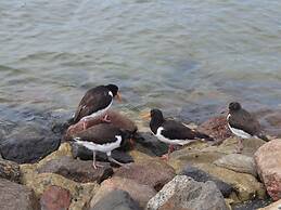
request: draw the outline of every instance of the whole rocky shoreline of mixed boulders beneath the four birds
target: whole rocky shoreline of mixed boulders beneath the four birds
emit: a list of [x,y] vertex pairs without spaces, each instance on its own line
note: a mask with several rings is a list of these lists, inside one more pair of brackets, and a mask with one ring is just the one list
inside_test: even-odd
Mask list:
[[[127,117],[111,115],[119,127],[137,130]],[[245,140],[242,154],[235,154],[238,139],[228,131],[225,116],[197,129],[216,143],[191,143],[164,161],[158,156],[167,146],[139,128],[133,147],[113,153],[126,168],[99,154],[104,167],[94,170],[91,153],[61,132],[24,124],[1,143],[0,209],[269,210],[281,205],[281,140]]]

